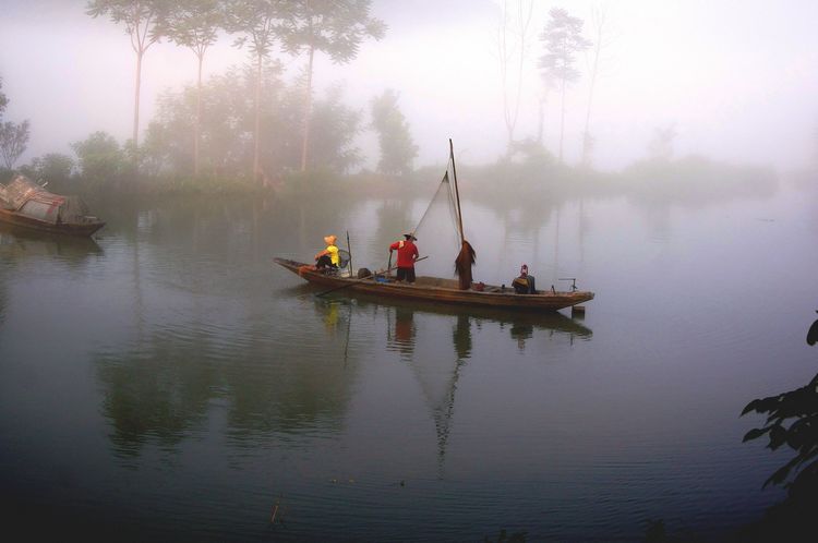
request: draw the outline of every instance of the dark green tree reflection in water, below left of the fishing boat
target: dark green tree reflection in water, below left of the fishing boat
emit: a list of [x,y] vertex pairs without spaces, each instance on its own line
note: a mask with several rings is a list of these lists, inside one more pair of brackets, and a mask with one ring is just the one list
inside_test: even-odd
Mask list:
[[[133,458],[148,444],[178,449],[226,410],[233,445],[254,447],[281,434],[340,427],[354,376],[347,349],[350,313],[316,303],[324,336],[314,345],[270,334],[269,323],[240,323],[230,335],[212,322],[176,323],[130,348],[96,357],[116,454]],[[348,341],[348,340],[347,340]],[[351,371],[350,371],[351,370]]]

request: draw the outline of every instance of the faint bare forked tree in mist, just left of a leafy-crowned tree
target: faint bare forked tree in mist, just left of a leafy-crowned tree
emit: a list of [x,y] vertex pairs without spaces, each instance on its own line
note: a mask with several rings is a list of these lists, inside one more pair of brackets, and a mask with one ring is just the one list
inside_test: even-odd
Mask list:
[[[516,0],[515,10],[512,13],[508,0],[503,2],[503,19],[498,32],[497,47],[500,49],[500,74],[503,83],[503,120],[506,123],[508,136],[508,154],[514,148],[514,131],[520,111],[520,97],[522,94],[522,72],[526,61],[526,52],[529,47],[529,26],[533,13],[531,0]],[[508,96],[509,67],[516,62],[515,96]]]

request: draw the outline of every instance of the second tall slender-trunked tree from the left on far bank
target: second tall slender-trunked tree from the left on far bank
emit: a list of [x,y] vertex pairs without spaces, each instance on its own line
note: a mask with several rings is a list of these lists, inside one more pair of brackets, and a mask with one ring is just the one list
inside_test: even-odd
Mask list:
[[216,43],[224,25],[219,0],[179,0],[168,16],[168,37],[190,48],[196,56],[196,117],[193,123],[193,173],[201,170],[202,141],[202,64],[207,49]]

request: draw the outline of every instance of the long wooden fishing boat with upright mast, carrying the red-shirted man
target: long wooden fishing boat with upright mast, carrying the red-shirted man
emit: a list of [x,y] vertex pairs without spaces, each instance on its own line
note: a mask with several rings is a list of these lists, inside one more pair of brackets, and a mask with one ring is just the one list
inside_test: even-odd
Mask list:
[[[564,307],[578,305],[582,302],[593,300],[593,292],[579,291],[572,288],[570,292],[561,292],[553,289],[537,291],[536,293],[517,293],[514,289],[506,289],[494,285],[474,283],[471,281],[470,260],[468,251],[471,249],[466,241],[462,228],[462,214],[460,213],[460,195],[457,188],[457,169],[455,168],[455,153],[449,140],[449,164],[454,177],[454,195],[449,198],[454,203],[453,209],[457,217],[458,234],[461,242],[461,251],[457,257],[456,266],[465,262],[465,273],[460,273],[460,280],[445,279],[441,277],[417,277],[413,283],[394,281],[387,274],[366,274],[364,278],[345,277],[342,273],[325,273],[316,270],[309,264],[287,258],[274,258],[276,264],[297,274],[302,279],[328,288],[326,292],[346,291],[373,294],[378,298],[422,300],[435,303],[448,303],[459,305],[473,305],[484,307],[504,307],[513,310],[532,311],[557,311]],[[448,184],[448,170],[443,176],[441,184]],[[433,198],[434,200],[434,198]],[[431,205],[431,204],[430,204]],[[424,214],[425,215],[425,214]],[[423,219],[421,218],[421,221]],[[417,231],[417,228],[416,230]],[[464,258],[465,256],[465,258]],[[473,256],[473,253],[472,253]],[[346,264],[346,263],[345,263]],[[344,265],[341,266],[344,268]],[[459,268],[458,268],[459,269]],[[466,277],[466,278],[465,278]],[[470,287],[470,288],[469,288]]]

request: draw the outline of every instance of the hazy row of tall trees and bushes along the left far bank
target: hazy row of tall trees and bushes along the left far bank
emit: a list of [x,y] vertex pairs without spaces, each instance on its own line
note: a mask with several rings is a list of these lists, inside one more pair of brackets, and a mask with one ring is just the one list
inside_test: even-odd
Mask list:
[[[130,38],[135,61],[133,131],[123,145],[105,132],[72,144],[76,168],[91,185],[158,176],[242,177],[268,185],[289,171],[345,172],[358,166],[363,157],[353,138],[372,128],[382,142],[380,171],[411,171],[417,146],[398,109],[397,93],[387,89],[371,99],[370,124],[362,111],[344,104],[339,87],[314,96],[316,56],[345,64],[357,58],[364,40],[385,35],[386,24],[370,11],[371,0],[88,1],[87,15],[123,26]],[[207,52],[222,36],[232,36],[232,46],[246,50],[250,62],[204,81]],[[159,97],[158,112],[140,141],[142,69],[147,52],[163,40],[194,53],[196,80]],[[304,59],[294,82],[285,81],[284,62],[275,50]],[[8,169],[25,150],[27,121],[23,129],[25,138],[17,137],[14,155],[5,160]],[[46,155],[32,160],[27,171],[41,174],[57,164],[64,170],[72,160]]]

